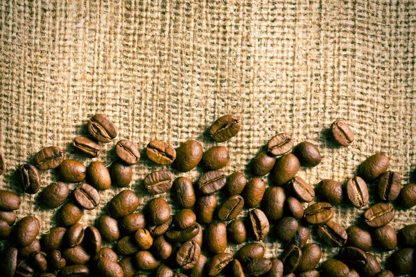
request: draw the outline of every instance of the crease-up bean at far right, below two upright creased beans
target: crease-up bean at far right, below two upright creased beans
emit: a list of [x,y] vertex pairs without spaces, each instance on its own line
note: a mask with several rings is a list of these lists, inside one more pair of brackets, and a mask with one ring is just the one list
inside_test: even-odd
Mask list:
[[390,203],[378,203],[364,213],[365,223],[371,227],[380,227],[392,221],[395,208]]

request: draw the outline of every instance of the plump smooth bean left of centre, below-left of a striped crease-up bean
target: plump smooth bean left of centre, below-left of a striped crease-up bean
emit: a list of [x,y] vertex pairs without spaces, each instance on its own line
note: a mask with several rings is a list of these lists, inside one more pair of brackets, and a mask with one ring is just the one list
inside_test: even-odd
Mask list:
[[136,211],[138,206],[139,197],[132,190],[122,190],[111,199],[107,209],[111,217],[121,218]]

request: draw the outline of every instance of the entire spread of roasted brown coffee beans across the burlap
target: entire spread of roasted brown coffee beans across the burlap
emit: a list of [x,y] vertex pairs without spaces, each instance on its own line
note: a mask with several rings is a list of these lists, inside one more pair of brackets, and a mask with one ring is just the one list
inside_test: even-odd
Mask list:
[[[117,128],[103,114],[94,115],[87,127],[91,138],[76,138],[73,148],[95,158],[101,154],[100,143],[116,138]],[[232,139],[240,128],[239,118],[226,115],[212,123],[208,134],[220,143]],[[331,131],[340,145],[351,145],[354,141],[352,129],[343,120],[336,120]],[[30,163],[19,166],[18,182],[24,193],[29,194],[40,191],[40,170],[56,170],[60,181],[40,191],[39,204],[49,209],[59,207],[58,226],[40,235],[42,219],[29,215],[15,224],[15,210],[19,209],[21,199],[15,193],[0,190],[0,239],[10,242],[10,247],[1,253],[1,276],[387,277],[416,274],[414,218],[398,233],[389,225],[395,217],[395,207],[416,205],[416,184],[401,188],[399,175],[388,171],[389,159],[381,152],[363,161],[357,175],[348,179],[345,186],[331,179],[313,186],[297,176],[301,166],[318,166],[322,157],[313,143],[303,141],[295,145],[286,133],[270,139],[252,159],[250,168],[254,177],[250,180],[242,172],[226,176],[221,170],[230,160],[224,146],[204,152],[195,140],[186,141],[177,149],[155,140],[148,143],[145,152],[154,163],[171,165],[179,172],[188,172],[198,165],[205,169],[197,180],[184,176],[175,179],[166,170],[150,172],[144,178],[143,186],[148,194],[171,192],[177,205],[174,215],[166,199],[157,196],[143,211],[138,211],[142,195],[125,189],[107,203],[107,213],[96,219],[95,226],[85,228],[79,223],[85,210],[100,205],[102,190],[129,186],[132,166],[141,158],[132,141],[123,139],[116,143],[117,160],[110,170],[100,161],[85,166],[80,161],[65,159],[56,146],[40,150]],[[0,154],[0,175],[4,169],[5,161]],[[269,172],[270,178],[266,181],[262,177]],[[379,203],[363,213],[363,224],[345,229],[333,220],[336,206],[340,204],[367,206],[373,193],[368,184],[374,182],[378,184]],[[76,188],[71,191],[69,183],[76,183]],[[219,191],[225,195],[220,197],[220,203]],[[304,209],[302,203],[310,204]],[[248,211],[246,217],[243,217],[244,209]],[[338,255],[320,262],[320,245],[308,243],[311,232],[318,234],[321,244],[338,247]],[[281,256],[265,257],[262,241],[266,238],[284,245]],[[228,244],[241,247],[236,253],[227,253]],[[373,247],[379,251],[397,249],[385,262],[385,270],[368,253]]]

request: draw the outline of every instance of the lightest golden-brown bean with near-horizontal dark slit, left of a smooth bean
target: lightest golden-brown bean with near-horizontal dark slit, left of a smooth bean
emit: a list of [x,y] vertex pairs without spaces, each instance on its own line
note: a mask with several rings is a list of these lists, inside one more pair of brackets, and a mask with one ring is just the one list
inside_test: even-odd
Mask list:
[[146,147],[148,158],[161,166],[167,166],[176,159],[175,148],[164,141],[150,141]]

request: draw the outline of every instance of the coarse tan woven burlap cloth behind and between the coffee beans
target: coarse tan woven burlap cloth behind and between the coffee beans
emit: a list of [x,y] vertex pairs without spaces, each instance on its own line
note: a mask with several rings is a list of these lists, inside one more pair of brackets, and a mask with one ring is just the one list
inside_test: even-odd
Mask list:
[[[175,147],[198,139],[207,150],[217,143],[205,130],[231,113],[243,127],[218,143],[230,152],[227,175],[246,170],[262,145],[288,132],[322,153],[319,166],[299,172],[311,184],[345,182],[378,150],[388,154],[403,184],[414,181],[415,26],[411,0],[3,0],[0,150],[8,166],[0,187],[22,197],[18,218],[35,215],[47,232],[57,209],[34,206],[36,195],[15,184],[15,168],[49,145],[88,165],[92,160],[76,154],[71,142],[87,134],[85,123],[96,112],[119,128],[98,157],[109,166],[119,139],[141,149],[152,139]],[[348,148],[337,147],[328,133],[337,118],[356,134]],[[140,208],[151,198],[141,181],[162,168],[145,157],[135,166],[130,188],[141,196]],[[200,175],[172,172],[193,180]],[[57,179],[53,171],[42,172],[42,188]],[[374,185],[370,189],[374,202]],[[101,192],[101,206],[85,211],[84,226],[121,190]],[[334,220],[348,227],[366,208],[338,206]],[[399,210],[392,226],[399,230],[415,218],[416,208]],[[283,249],[272,238],[264,244],[270,258]],[[229,251],[237,248],[229,245]],[[324,247],[325,258],[337,252]],[[390,254],[372,253],[380,261]]]

